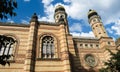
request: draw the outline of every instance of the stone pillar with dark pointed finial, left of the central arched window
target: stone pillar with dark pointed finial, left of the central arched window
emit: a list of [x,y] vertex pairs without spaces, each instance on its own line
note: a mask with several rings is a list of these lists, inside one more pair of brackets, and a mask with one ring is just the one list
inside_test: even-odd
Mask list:
[[32,16],[30,21],[29,29],[29,38],[28,38],[28,47],[26,49],[26,58],[25,58],[25,72],[34,72],[35,67],[35,51],[36,51],[36,41],[37,41],[37,20],[36,14]]

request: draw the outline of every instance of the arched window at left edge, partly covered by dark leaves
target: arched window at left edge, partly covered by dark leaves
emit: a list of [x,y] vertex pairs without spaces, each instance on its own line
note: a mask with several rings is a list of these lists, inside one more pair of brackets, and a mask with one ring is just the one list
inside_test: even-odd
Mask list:
[[4,36],[0,39],[2,40],[0,42],[0,56],[10,56],[9,60],[13,60],[16,47],[16,39],[11,36]]

